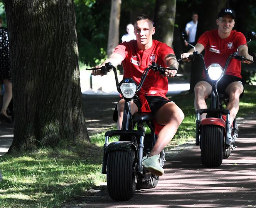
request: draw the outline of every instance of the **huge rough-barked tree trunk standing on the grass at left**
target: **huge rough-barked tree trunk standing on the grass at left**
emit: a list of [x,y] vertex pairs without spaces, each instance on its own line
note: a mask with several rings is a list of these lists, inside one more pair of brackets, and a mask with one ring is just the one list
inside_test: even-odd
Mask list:
[[13,77],[12,148],[89,140],[73,0],[5,0]]

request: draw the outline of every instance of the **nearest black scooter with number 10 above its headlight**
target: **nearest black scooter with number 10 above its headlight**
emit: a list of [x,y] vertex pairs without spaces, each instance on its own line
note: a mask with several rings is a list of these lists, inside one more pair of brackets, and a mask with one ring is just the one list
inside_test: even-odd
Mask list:
[[[101,74],[105,75],[110,70],[115,73],[117,91],[125,99],[125,110],[121,130],[112,130],[105,133],[104,155],[102,173],[107,175],[109,196],[116,201],[130,200],[136,189],[155,188],[158,183],[158,176],[149,173],[142,165],[142,158],[152,150],[156,143],[154,116],[151,113],[135,113],[131,115],[130,101],[138,99],[136,93],[140,91],[147,74],[150,70],[155,73],[164,74],[164,68],[157,63],[152,63],[145,69],[139,85],[132,78],[124,78],[118,83],[116,68],[111,63],[106,63],[100,68]],[[172,68],[172,70],[177,70]],[[147,124],[151,133],[145,133],[144,124]],[[137,130],[134,130],[137,125]],[[120,136],[119,141],[109,143],[112,136]],[[164,151],[160,153],[159,164],[164,165]]]

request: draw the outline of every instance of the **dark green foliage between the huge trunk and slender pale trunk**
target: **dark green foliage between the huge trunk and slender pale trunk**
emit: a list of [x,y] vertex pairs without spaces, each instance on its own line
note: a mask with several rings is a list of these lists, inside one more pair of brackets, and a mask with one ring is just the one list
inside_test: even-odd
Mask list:
[[[110,1],[75,0],[79,60],[95,65],[106,56]],[[103,48],[103,49],[101,49]]]

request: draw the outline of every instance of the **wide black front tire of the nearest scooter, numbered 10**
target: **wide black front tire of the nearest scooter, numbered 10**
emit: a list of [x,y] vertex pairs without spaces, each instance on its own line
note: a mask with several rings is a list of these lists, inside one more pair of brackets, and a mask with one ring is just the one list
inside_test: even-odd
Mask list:
[[130,200],[135,193],[136,182],[135,151],[110,151],[107,162],[109,196],[116,201]]

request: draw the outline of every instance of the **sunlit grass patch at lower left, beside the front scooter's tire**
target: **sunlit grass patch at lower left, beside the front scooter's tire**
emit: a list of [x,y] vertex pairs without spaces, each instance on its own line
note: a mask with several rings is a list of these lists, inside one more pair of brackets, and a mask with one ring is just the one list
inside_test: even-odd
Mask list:
[[56,207],[101,184],[101,152],[95,145],[79,144],[2,156],[0,207]]

